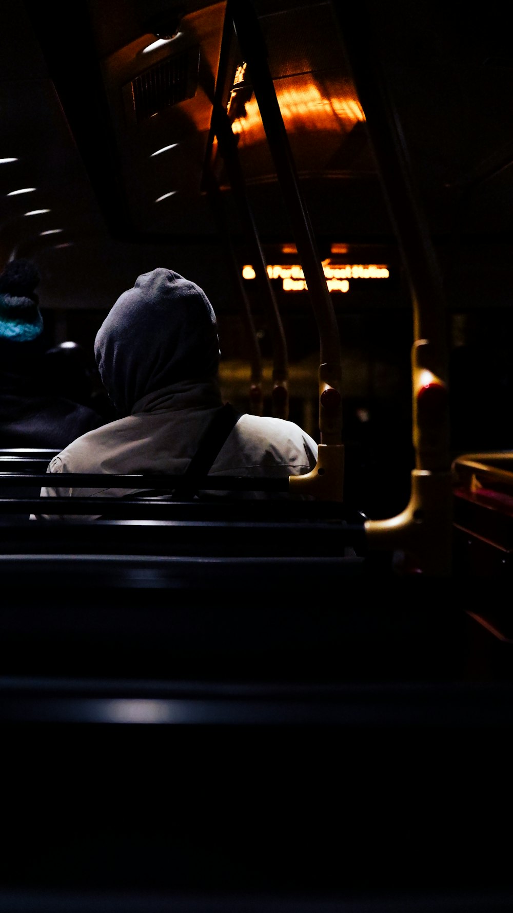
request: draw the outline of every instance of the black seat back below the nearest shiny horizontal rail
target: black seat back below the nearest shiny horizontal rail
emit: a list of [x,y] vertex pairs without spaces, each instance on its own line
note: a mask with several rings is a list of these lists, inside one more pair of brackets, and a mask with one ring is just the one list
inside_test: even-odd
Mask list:
[[24,913],[19,896],[70,911],[102,895],[116,910],[138,897],[150,910],[159,897],[159,910],[210,898],[217,913],[258,911],[259,898],[286,911],[331,900],[330,913],[502,909],[508,730],[4,724],[0,904],[4,893],[18,900],[3,909]]

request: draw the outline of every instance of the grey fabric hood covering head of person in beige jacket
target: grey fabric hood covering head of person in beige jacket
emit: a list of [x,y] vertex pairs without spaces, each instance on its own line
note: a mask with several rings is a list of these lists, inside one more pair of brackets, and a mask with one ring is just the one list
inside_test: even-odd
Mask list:
[[118,413],[180,381],[217,377],[217,321],[204,291],[172,269],[143,273],[97,331],[98,372]]

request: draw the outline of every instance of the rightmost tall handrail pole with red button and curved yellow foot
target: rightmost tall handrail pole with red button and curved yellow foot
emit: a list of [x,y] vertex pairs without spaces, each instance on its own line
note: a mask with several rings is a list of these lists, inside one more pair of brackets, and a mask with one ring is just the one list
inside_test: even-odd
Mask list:
[[[369,519],[369,544],[405,551],[416,571],[452,570],[452,479],[449,450],[446,302],[426,215],[417,199],[405,134],[380,67],[373,17],[364,0],[333,4],[341,45],[363,107],[385,202],[409,279],[414,314],[411,495],[396,517]],[[385,482],[385,480],[384,480]]]

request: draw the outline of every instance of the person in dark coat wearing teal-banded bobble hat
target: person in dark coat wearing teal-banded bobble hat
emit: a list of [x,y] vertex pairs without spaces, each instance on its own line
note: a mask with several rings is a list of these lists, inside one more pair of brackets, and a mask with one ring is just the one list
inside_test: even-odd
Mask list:
[[46,386],[40,273],[23,257],[0,274],[0,446],[61,450],[104,424],[97,412]]

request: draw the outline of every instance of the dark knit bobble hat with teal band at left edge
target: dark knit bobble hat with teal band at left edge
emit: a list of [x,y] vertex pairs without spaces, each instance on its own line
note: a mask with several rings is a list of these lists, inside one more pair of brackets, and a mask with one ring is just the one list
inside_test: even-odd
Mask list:
[[0,274],[0,339],[27,342],[43,332],[36,286],[41,275],[30,260],[11,260]]

